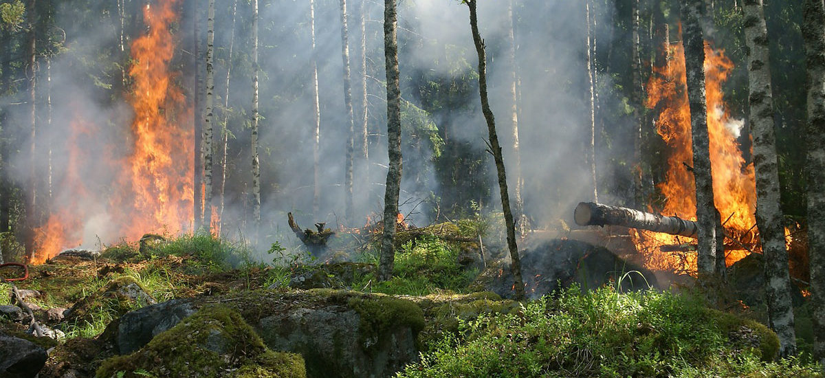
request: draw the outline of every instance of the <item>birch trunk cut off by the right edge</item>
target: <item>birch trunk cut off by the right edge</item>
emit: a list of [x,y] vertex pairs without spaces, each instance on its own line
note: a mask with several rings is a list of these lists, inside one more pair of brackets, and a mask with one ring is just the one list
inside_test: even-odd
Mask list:
[[808,255],[813,357],[825,370],[825,4],[804,0],[802,34],[808,63]]

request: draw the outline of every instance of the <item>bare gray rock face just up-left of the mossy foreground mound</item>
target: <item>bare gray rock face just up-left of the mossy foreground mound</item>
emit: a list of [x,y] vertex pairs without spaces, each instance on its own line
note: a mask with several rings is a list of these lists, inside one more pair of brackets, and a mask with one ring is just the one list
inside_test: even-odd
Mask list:
[[120,354],[140,349],[158,333],[174,327],[195,311],[186,300],[169,300],[126,313],[117,325],[115,343]]

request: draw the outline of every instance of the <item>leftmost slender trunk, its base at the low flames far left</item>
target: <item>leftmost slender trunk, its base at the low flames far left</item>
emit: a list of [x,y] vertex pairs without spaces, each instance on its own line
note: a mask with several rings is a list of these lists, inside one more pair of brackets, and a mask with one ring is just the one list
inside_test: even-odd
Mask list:
[[26,79],[29,84],[29,111],[31,129],[29,137],[29,181],[26,187],[26,237],[24,247],[26,248],[26,262],[30,262],[35,252],[35,227],[37,227],[37,173],[35,169],[35,157],[37,156],[37,106],[36,106],[36,84],[37,69],[36,58],[36,0],[29,0],[26,7],[26,21],[29,24],[29,32],[26,36]]

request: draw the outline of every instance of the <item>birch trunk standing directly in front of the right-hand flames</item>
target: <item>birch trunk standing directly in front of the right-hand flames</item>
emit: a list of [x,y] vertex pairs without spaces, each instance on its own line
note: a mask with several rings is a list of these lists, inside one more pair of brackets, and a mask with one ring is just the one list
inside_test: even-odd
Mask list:
[[710,174],[710,150],[705,102],[705,40],[700,26],[702,0],[681,2],[685,31],[685,67],[687,97],[691,106],[693,138],[693,176],[696,182],[696,220],[699,223],[697,267],[700,276],[716,272],[716,223],[719,213],[714,206],[713,179]]

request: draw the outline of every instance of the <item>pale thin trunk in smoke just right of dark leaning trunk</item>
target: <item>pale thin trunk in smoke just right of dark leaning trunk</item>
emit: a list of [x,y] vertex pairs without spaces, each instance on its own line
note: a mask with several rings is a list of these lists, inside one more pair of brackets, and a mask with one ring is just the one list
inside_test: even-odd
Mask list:
[[510,64],[510,70],[507,72],[508,84],[510,85],[510,126],[512,132],[512,142],[513,142],[513,168],[516,171],[516,177],[514,177],[514,182],[516,185],[513,187],[513,191],[516,196],[516,219],[519,229],[519,234],[525,235],[527,233],[527,216],[524,214],[524,198],[521,197],[521,148],[519,147],[519,134],[518,134],[518,73],[517,71],[517,64],[516,64],[516,20],[513,18],[513,3],[515,0],[510,0],[507,2],[507,60],[508,64]]

